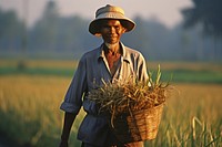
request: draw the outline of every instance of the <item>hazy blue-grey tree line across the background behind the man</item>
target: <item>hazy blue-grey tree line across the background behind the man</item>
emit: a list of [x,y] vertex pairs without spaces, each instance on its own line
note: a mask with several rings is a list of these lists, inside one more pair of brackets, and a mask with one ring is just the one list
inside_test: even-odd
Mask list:
[[[138,15],[133,18],[135,30],[123,34],[122,42],[141,51],[151,61],[221,61],[222,40],[219,30],[222,25],[214,28],[208,19],[201,23],[201,14],[198,14],[199,19],[194,17],[194,8],[184,9],[184,21],[172,29],[158,20],[145,20]],[[79,15],[60,17],[54,1],[47,3],[42,17],[31,28],[14,11],[0,9],[0,54],[79,59],[102,43],[100,38],[89,33],[90,21]]]

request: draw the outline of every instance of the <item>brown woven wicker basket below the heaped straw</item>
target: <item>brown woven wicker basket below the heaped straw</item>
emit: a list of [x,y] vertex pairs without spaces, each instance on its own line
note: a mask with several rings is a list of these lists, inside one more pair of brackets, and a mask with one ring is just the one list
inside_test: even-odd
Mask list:
[[113,133],[121,143],[154,139],[158,134],[163,104],[118,116]]

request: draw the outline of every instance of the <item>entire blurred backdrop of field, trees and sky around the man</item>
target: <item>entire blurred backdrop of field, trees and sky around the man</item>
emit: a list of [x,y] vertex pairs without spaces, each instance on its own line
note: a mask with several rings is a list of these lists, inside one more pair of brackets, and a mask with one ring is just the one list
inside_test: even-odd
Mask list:
[[[142,52],[150,72],[160,64],[162,81],[178,91],[147,145],[221,146],[221,0],[0,0],[0,147],[59,144],[59,106],[80,56],[102,43],[88,27],[108,3],[137,23],[123,44]],[[83,115],[71,146],[80,146]]]

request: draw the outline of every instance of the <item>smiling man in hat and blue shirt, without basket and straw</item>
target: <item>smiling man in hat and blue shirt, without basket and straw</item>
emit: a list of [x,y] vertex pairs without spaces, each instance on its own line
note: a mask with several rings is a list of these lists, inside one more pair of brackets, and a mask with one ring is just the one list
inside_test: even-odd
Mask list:
[[98,113],[97,104],[88,99],[88,93],[102,85],[103,81],[124,81],[132,76],[140,81],[148,80],[142,54],[124,46],[120,41],[121,35],[134,27],[135,23],[125,18],[124,11],[119,7],[108,4],[95,12],[89,32],[101,36],[103,43],[81,57],[61,104],[60,108],[65,114],[60,147],[68,147],[70,129],[81,106],[87,112],[78,132],[78,139],[82,141],[83,147],[143,147],[143,141],[121,144],[112,134],[104,115]]

